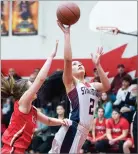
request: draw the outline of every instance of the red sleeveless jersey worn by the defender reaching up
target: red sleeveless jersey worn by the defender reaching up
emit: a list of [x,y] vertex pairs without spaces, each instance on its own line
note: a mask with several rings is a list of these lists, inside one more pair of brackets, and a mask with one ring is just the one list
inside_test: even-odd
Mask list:
[[27,149],[36,128],[37,110],[32,106],[28,114],[19,111],[18,101],[14,104],[14,112],[10,124],[2,136],[2,142],[11,147]]

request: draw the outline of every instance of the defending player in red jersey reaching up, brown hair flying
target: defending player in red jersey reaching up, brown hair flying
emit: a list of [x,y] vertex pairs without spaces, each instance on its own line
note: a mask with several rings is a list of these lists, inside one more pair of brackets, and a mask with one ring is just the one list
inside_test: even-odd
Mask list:
[[67,125],[66,120],[49,118],[32,106],[32,101],[37,97],[36,93],[45,81],[52,60],[56,56],[57,47],[58,41],[54,52],[47,58],[33,84],[28,80],[15,82],[12,77],[10,80],[2,77],[2,97],[6,98],[12,95],[17,100],[14,104],[14,112],[9,127],[2,136],[4,144],[2,154],[25,153],[33,137],[37,120],[49,126]]

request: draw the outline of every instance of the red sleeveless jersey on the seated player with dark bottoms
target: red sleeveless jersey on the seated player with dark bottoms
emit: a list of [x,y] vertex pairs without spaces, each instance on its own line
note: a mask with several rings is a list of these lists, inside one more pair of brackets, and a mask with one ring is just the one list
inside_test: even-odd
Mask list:
[[99,119],[96,118],[95,123],[95,137],[101,137],[106,133],[106,119],[104,118],[102,123],[99,122]]

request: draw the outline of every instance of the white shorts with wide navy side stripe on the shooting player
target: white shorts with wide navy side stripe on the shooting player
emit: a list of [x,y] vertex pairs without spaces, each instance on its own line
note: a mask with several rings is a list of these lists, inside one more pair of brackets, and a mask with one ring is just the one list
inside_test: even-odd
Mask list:
[[76,122],[72,122],[69,127],[61,126],[55,135],[49,153],[80,153],[88,133],[88,129]]

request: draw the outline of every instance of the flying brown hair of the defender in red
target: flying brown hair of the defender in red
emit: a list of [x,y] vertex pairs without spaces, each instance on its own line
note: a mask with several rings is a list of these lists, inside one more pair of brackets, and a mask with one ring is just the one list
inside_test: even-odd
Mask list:
[[15,81],[12,76],[9,79],[1,76],[1,97],[2,99],[12,96],[15,100],[21,98],[26,90],[28,90],[28,80],[20,79]]

